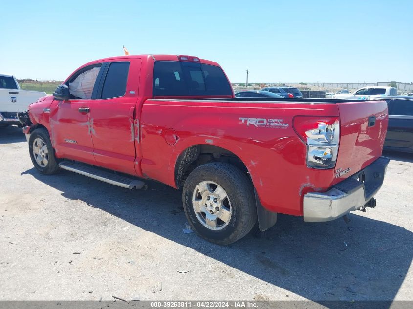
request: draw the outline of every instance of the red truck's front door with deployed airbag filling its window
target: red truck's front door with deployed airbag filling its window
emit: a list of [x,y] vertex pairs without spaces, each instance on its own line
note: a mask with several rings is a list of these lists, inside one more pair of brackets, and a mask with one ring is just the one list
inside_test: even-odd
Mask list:
[[60,158],[95,164],[90,106],[102,63],[79,69],[66,82],[71,99],[54,100],[50,107],[52,143]]

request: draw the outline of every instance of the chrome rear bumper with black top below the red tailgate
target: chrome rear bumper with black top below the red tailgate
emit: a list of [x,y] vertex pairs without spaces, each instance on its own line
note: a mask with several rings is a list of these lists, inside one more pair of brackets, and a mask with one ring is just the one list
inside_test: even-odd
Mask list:
[[331,221],[366,205],[383,184],[389,161],[380,157],[327,192],[305,194],[304,221]]

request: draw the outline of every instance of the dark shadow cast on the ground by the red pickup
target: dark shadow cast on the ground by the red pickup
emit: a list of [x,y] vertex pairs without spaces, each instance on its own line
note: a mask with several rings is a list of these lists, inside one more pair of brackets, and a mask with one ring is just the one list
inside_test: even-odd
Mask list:
[[[66,171],[45,176],[33,168],[22,174],[30,174],[62,191],[65,198],[82,200],[268,284],[320,303],[391,301],[412,261],[412,232],[356,214],[348,215],[349,224],[341,219],[305,223],[299,217],[280,215],[274,227],[258,236],[250,234],[230,246],[217,246],[196,233],[183,233],[186,218],[182,192],[166,185],[149,181],[147,191],[131,191]],[[285,300],[288,299],[286,292]]]

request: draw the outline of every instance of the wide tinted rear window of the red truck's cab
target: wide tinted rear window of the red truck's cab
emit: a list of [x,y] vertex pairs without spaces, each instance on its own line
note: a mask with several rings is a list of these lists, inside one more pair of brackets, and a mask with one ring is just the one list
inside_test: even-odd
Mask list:
[[220,67],[179,61],[157,61],[153,70],[153,96],[232,95]]

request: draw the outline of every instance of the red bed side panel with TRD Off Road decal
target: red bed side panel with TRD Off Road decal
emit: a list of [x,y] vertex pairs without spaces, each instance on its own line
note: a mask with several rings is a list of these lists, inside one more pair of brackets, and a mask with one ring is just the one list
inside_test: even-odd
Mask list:
[[[309,114],[338,116],[338,110],[335,104],[317,103],[147,100],[142,110],[142,171],[176,187],[178,156],[194,145],[215,145],[246,165],[265,208],[302,215],[303,195],[326,190],[334,179],[334,169],[309,169],[305,164],[306,145],[292,120]],[[174,145],[165,141],[169,128],[176,132]]]

